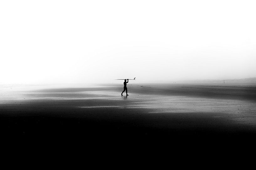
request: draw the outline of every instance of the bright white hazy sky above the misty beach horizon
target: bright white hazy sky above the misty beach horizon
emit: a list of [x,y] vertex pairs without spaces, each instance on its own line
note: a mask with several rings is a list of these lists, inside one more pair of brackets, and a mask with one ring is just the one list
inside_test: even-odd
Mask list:
[[0,1],[0,82],[256,77],[256,1]]

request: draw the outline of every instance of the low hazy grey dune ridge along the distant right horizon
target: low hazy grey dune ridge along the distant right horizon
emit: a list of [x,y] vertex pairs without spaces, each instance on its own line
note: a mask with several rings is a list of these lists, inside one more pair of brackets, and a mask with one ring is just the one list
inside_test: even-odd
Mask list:
[[[184,83],[217,83],[217,84],[224,84],[224,80],[187,80],[187,81],[183,81],[183,82]],[[246,79],[225,80],[225,84],[256,84],[256,77],[246,78]]]

